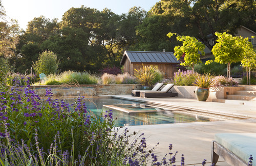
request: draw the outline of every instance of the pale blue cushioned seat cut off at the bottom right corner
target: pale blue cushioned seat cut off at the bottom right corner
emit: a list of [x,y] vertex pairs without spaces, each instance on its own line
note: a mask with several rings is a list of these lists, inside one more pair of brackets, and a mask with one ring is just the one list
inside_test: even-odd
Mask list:
[[211,163],[216,164],[221,156],[230,165],[248,165],[250,155],[253,158],[256,157],[255,141],[256,133],[215,134],[215,141],[212,142]]

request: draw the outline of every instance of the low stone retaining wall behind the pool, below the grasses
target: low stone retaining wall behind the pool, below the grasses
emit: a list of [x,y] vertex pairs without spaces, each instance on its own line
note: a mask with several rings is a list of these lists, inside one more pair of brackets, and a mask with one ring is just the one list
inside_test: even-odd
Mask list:
[[60,85],[60,86],[31,86],[39,96],[44,96],[46,88],[51,88],[53,96],[100,96],[131,94],[132,90],[140,90],[137,84],[115,85]]

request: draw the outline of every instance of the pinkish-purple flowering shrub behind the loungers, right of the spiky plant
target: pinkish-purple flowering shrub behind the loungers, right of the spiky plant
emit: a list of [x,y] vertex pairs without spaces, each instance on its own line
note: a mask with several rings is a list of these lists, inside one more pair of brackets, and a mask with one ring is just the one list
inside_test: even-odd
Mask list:
[[174,73],[174,84],[177,86],[192,86],[198,78],[199,74],[192,70],[181,71]]

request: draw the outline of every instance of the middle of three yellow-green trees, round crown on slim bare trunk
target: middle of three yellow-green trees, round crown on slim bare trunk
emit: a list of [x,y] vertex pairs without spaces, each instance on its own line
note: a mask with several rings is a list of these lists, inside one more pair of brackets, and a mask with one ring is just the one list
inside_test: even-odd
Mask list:
[[[212,48],[211,52],[215,56],[215,62],[221,64],[227,64],[227,77],[230,78],[230,64],[240,62],[242,55],[244,54],[243,49],[243,37],[233,37],[227,33],[215,33],[218,37],[217,43]],[[207,61],[206,64],[212,61]]]

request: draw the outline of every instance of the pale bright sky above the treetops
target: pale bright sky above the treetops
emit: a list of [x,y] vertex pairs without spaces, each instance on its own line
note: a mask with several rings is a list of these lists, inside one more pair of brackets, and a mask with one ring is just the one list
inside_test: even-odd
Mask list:
[[115,14],[127,13],[134,6],[149,11],[160,0],[2,0],[8,17],[18,20],[19,26],[26,30],[27,24],[35,17],[58,18],[72,7],[82,5],[102,11],[111,9]]

